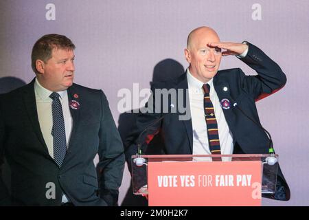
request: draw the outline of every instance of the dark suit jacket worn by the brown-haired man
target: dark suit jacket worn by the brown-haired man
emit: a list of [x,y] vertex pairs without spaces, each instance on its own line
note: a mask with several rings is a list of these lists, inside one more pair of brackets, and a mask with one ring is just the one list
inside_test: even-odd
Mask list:
[[[117,203],[124,154],[106,96],[102,90],[76,84],[67,91],[69,102],[78,101],[80,109],[70,108],[73,126],[61,168],[49,155],[41,133],[34,80],[0,95],[0,162],[5,157],[12,170],[11,192],[0,178],[1,205],[59,206],[62,192],[76,206]],[[93,164],[96,153],[100,181]],[[56,199],[47,199],[45,194],[51,195],[48,183],[56,186]]]

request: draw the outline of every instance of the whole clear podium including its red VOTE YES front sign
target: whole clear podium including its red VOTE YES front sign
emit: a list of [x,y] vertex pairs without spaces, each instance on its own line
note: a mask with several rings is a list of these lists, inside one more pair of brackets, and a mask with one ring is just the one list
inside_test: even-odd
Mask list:
[[278,155],[133,155],[135,195],[149,206],[261,206],[276,190]]

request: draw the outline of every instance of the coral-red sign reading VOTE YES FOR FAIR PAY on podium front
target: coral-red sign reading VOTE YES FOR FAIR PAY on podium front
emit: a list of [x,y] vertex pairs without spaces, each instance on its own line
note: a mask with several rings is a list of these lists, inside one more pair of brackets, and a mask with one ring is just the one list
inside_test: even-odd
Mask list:
[[149,206],[261,206],[262,162],[148,162]]

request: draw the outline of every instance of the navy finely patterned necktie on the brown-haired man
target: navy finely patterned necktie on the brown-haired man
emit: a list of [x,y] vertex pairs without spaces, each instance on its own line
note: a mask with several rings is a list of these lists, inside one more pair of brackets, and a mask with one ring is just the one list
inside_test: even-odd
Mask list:
[[54,142],[54,161],[61,167],[65,154],[67,153],[67,140],[65,137],[65,120],[60,103],[60,95],[53,92],[49,98],[52,98],[52,115],[53,115],[53,142]]

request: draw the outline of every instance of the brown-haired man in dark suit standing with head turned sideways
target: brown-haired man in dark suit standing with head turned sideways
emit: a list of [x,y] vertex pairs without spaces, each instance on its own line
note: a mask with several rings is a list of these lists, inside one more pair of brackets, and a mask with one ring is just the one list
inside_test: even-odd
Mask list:
[[117,205],[122,141],[103,91],[73,83],[74,49],[66,36],[41,37],[36,78],[0,96],[0,164],[12,171],[10,192],[0,178],[1,205]]

